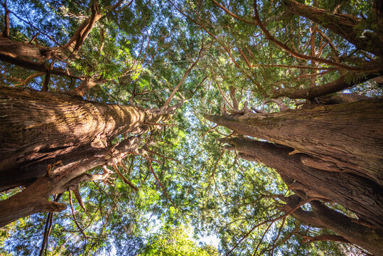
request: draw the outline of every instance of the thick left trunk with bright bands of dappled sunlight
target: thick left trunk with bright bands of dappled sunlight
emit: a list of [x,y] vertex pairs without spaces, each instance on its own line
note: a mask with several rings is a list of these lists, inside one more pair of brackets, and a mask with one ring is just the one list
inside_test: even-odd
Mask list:
[[141,107],[106,105],[62,93],[0,87],[0,188],[43,176],[48,164],[94,155],[119,134],[167,119]]

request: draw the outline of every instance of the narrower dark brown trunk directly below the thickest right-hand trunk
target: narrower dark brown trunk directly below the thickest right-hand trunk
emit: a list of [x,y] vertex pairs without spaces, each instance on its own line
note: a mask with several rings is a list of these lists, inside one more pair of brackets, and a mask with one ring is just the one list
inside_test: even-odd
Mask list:
[[295,182],[287,184],[290,189],[340,203],[372,225],[383,228],[382,187],[377,183],[355,174],[306,166],[302,164],[304,155],[288,155],[291,149],[286,146],[239,138],[229,139],[227,143],[232,144],[234,150],[253,156],[254,160],[292,178]]

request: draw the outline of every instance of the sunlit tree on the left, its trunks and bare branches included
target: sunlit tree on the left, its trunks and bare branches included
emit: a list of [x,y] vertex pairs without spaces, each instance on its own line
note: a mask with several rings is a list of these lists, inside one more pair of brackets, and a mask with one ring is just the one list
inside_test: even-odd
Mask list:
[[[121,7],[121,4],[122,1],[119,1],[104,7],[103,12],[119,13],[117,7],[121,10],[129,7],[129,4],[124,7]],[[5,9],[8,11],[7,6]],[[0,141],[1,149],[4,150],[0,159],[1,176],[4,178],[1,190],[27,186],[21,193],[1,201],[1,225],[32,213],[65,209],[63,203],[49,201],[48,198],[68,190],[75,191],[77,200],[82,203],[78,196],[80,182],[108,181],[112,171],[107,169],[107,166],[117,169],[117,164],[129,154],[140,154],[141,134],[165,125],[161,122],[168,120],[171,113],[182,104],[180,102],[178,105],[169,106],[178,87],[198,59],[186,70],[178,87],[173,90],[161,109],[108,105],[82,99],[91,87],[117,79],[107,78],[104,74],[77,77],[68,75],[68,72],[63,70],[55,71],[59,70],[54,67],[55,60],[70,65],[71,58],[80,58],[77,53],[80,52],[85,38],[95,23],[104,16],[97,1],[92,1],[91,10],[90,18],[85,18],[70,41],[58,48],[21,43],[9,39],[9,32],[3,33],[2,60],[21,68],[44,71],[46,74],[43,91],[48,90],[51,74],[75,78],[82,82],[68,93],[1,88],[1,112],[6,113],[1,116]],[[6,16],[6,20],[5,29],[9,31],[9,16]],[[81,57],[87,56],[82,54]],[[91,61],[87,58],[87,61]],[[46,68],[44,63],[33,62],[36,59],[51,60],[50,68]],[[43,68],[38,68],[42,66]],[[125,74],[131,68],[123,67],[122,70],[124,74],[119,75],[120,79],[126,77]],[[86,73],[89,72],[87,70]],[[134,93],[135,90],[131,100]],[[103,174],[85,174],[97,166],[104,166]],[[126,178],[124,181],[129,183]],[[133,184],[131,186],[134,187]]]

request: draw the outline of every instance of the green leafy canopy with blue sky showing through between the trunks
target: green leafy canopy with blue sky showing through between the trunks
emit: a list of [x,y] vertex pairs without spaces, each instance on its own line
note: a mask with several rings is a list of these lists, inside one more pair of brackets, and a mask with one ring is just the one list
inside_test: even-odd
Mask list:
[[[106,0],[99,4],[105,11],[116,2]],[[311,1],[301,2],[311,4]],[[331,9],[335,1],[319,2],[319,7]],[[366,16],[363,26],[372,29],[368,25],[372,19],[371,1],[351,2],[342,6],[341,11]],[[38,43],[50,47],[68,42],[84,17],[90,16],[90,1],[17,0],[7,4],[12,11],[11,37],[30,41],[40,33]],[[252,4],[253,1],[225,1],[227,8],[248,21],[254,15]],[[317,28],[326,32],[337,50],[319,33],[315,33],[311,45],[313,23],[287,14],[281,1],[261,1],[259,14],[277,40],[300,53],[310,55],[312,50],[321,50],[321,58],[333,60],[342,56],[344,63],[357,67],[371,57],[321,26]],[[281,177],[266,166],[228,153],[219,139],[232,136],[232,132],[207,122],[205,114],[235,113],[245,105],[276,112],[279,106],[269,99],[274,92],[324,85],[339,78],[344,70],[292,58],[266,40],[258,26],[237,21],[211,1],[199,0],[132,1],[122,11],[109,12],[95,24],[76,58],[52,65],[70,70],[78,77],[104,80],[87,92],[87,100],[159,108],[196,60],[200,48],[203,58],[172,101],[172,104],[186,101],[174,114],[174,126],[144,134],[141,148],[148,154],[130,155],[117,166],[138,191],[117,174],[113,174],[113,186],[98,181],[82,184],[80,192],[87,211],[73,197],[74,214],[68,207],[53,215],[46,255],[107,255],[108,252],[219,255],[215,248],[199,246],[190,240],[183,225],[193,225],[198,235],[216,235],[221,242],[220,253],[227,253],[254,225],[281,215],[282,202],[272,196],[291,194]],[[43,76],[23,83],[35,71],[9,63],[0,65],[2,86],[42,89]],[[81,81],[52,75],[48,89],[68,92]],[[234,110],[232,88],[239,102],[238,110]],[[369,81],[350,92],[376,96],[382,95],[382,87]],[[279,100],[289,108],[303,104],[303,100],[286,97]],[[4,199],[8,195],[1,196]],[[66,192],[60,202],[69,201]],[[344,208],[332,207],[347,213]],[[1,229],[0,254],[38,255],[47,217],[45,213],[32,215]],[[164,228],[150,234],[158,225]],[[261,225],[232,255],[345,255],[346,251],[359,250],[335,242],[302,242],[303,235],[322,233],[331,231],[312,228],[288,216]]]

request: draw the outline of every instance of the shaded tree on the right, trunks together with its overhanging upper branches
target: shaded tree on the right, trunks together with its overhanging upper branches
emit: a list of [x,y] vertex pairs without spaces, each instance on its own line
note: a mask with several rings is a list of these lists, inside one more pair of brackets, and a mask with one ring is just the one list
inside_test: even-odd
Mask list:
[[[311,43],[311,54],[298,52],[301,47],[299,36],[297,44],[294,44],[293,41],[287,44],[282,43],[282,37],[285,36],[285,33],[278,33],[280,38],[271,35],[269,29],[264,25],[264,21],[261,21],[257,1],[254,1],[253,19],[247,18],[249,12],[245,8],[236,9],[232,6],[232,9],[237,11],[234,14],[227,6],[217,1],[213,2],[222,12],[237,20],[234,21],[235,25],[227,26],[228,35],[226,37],[229,38],[227,41],[234,43],[233,38],[242,38],[243,40],[247,37],[247,35],[243,36],[243,33],[237,31],[237,26],[256,26],[267,42],[274,44],[277,50],[281,49],[293,57],[292,63],[289,64],[262,65],[257,64],[254,55],[249,51],[249,55],[255,60],[255,63],[252,63],[247,58],[247,54],[244,54],[244,51],[239,48],[238,41],[235,43],[237,46],[230,46],[230,43],[223,43],[215,31],[210,31],[211,36],[225,49],[230,55],[232,63],[238,70],[242,70],[245,76],[256,80],[255,74],[257,71],[259,72],[258,67],[280,67],[291,70],[298,68],[301,70],[301,78],[313,78],[306,80],[306,83],[301,83],[300,86],[293,86],[298,79],[293,79],[295,81],[290,85],[288,80],[282,80],[274,82],[271,88],[266,86],[260,88],[260,83],[254,81],[258,93],[263,97],[271,98],[269,102],[275,102],[281,110],[280,113],[269,114],[255,108],[250,110],[247,107],[248,102],[244,104],[243,110],[239,110],[238,101],[235,98],[237,97],[235,95],[236,88],[226,92],[232,97],[232,103],[225,99],[225,93],[221,91],[226,104],[230,105],[232,110],[225,109],[225,105],[220,108],[222,111],[232,112],[232,114],[224,112],[222,115],[207,115],[206,118],[215,124],[232,129],[239,136],[239,138],[222,139],[221,142],[230,144],[227,149],[237,151],[239,157],[249,161],[259,161],[274,168],[281,175],[288,188],[295,193],[293,196],[279,196],[279,200],[285,203],[282,210],[286,214],[293,214],[306,225],[333,230],[340,235],[335,240],[349,241],[374,254],[382,254],[383,248],[379,245],[382,243],[381,145],[383,134],[381,131],[383,126],[380,121],[383,114],[382,100],[365,100],[362,98],[360,101],[360,97],[354,99],[349,97],[351,102],[345,102],[344,97],[343,102],[339,102],[335,100],[336,95],[330,95],[382,75],[381,53],[377,48],[374,48],[374,46],[382,46],[383,43],[378,39],[379,35],[382,34],[380,28],[382,21],[378,14],[379,11],[376,9],[376,6],[379,5],[378,2],[374,3],[374,11],[367,13],[369,14],[367,20],[371,23],[367,23],[352,14],[331,14],[325,9],[307,6],[297,1],[283,1],[283,6],[277,5],[276,9],[284,9],[286,15],[297,14],[312,22],[311,36],[308,36],[306,44],[307,46]],[[267,13],[266,6],[267,4],[263,2],[261,11],[269,27],[278,21],[284,22],[282,17],[273,17],[270,11]],[[196,18],[195,22],[199,23],[203,29],[208,30],[210,28],[202,19]],[[365,32],[367,27],[369,31]],[[325,36],[321,31],[323,28],[328,29],[330,36]],[[275,28],[272,29],[275,30]],[[287,29],[286,32],[288,36]],[[291,31],[290,36],[296,32]],[[317,33],[320,36],[320,41],[315,38]],[[363,33],[368,33],[368,36],[360,36]],[[253,34],[254,32],[252,32]],[[336,38],[337,41],[340,38],[345,38],[354,44],[356,49],[349,55],[346,53],[340,55],[339,52],[337,53],[335,43],[330,40],[333,35],[338,37]],[[323,44],[325,40],[327,43]],[[324,49],[327,45],[331,46],[330,55],[333,57],[322,58],[320,55],[325,52]],[[247,47],[249,48],[249,46]],[[235,50],[238,52],[237,58],[234,55]],[[372,53],[374,57],[365,60],[355,55],[358,51],[363,52],[363,54]],[[276,54],[274,53],[274,55]],[[347,57],[345,57],[346,55]],[[288,59],[291,60],[291,58]],[[240,61],[247,65],[249,71],[241,67]],[[308,62],[311,65],[307,65]],[[324,75],[327,72],[322,74],[315,71],[311,74],[304,72],[305,69],[315,70],[317,68],[335,68],[340,70],[341,75],[338,78],[335,77],[331,82],[326,82],[326,80],[318,80],[318,75]],[[331,76],[328,77],[328,79],[330,78]],[[272,83],[270,81],[273,80],[276,81],[271,78],[266,82]],[[237,89],[243,90],[243,88]],[[282,100],[287,102],[287,99],[272,100],[272,98],[279,97],[308,100],[301,110],[286,110],[288,106],[284,105]],[[334,101],[329,100],[331,97]],[[342,98],[342,95],[338,95],[338,98]],[[265,139],[268,142],[250,140],[242,138],[243,136]],[[363,146],[363,144],[365,145]],[[360,201],[360,203],[351,203],[354,200],[352,198]],[[302,210],[301,203],[310,203],[311,211]],[[355,216],[350,218],[345,214],[338,213],[325,206],[324,203],[338,203],[355,213]],[[369,213],[365,212],[366,210]],[[279,218],[274,219],[273,223],[276,220]],[[318,223],[315,223],[317,220]],[[326,224],[323,225],[323,223]]]

